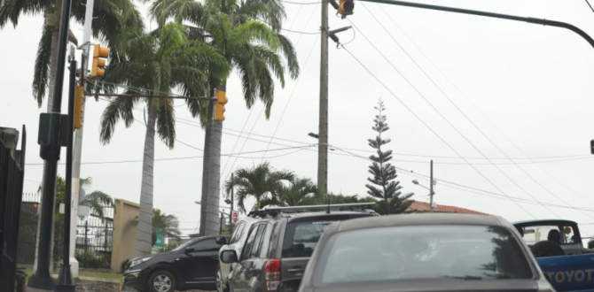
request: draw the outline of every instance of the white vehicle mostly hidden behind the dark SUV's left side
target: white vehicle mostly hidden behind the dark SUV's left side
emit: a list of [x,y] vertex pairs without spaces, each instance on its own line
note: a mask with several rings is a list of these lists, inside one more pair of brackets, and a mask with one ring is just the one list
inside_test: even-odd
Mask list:
[[[240,219],[233,228],[233,232],[231,233],[229,242],[223,242],[226,244],[224,244],[221,247],[220,252],[223,252],[225,250],[235,250],[238,254],[240,254],[241,250],[243,249],[244,243],[246,243],[247,232],[250,230],[254,222],[256,222],[256,219],[250,216]],[[219,260],[219,266],[216,270],[217,291],[224,292],[228,290],[227,287],[229,287],[229,283],[227,282],[227,279],[229,278],[230,272],[231,264],[225,264]]]

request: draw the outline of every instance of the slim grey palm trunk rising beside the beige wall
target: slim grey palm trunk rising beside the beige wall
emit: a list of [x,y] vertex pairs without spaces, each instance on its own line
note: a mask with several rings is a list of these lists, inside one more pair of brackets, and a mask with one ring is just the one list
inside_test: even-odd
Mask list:
[[136,256],[144,257],[152,250],[152,170],[154,165],[154,134],[157,109],[152,100],[148,102],[145,153],[143,157],[143,178],[140,187],[140,211],[138,212]]

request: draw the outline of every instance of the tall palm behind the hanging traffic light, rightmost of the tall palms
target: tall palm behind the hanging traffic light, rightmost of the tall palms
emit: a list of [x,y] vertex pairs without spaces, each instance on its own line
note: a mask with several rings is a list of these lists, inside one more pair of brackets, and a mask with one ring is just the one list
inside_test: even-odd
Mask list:
[[[266,118],[274,101],[274,81],[285,86],[285,69],[291,77],[299,75],[293,44],[280,34],[285,8],[281,0],[157,0],[152,4],[154,19],[188,21],[194,35],[207,42],[236,69],[248,108],[256,99],[266,105]],[[284,62],[284,61],[285,62]],[[225,79],[211,78],[210,88],[225,92]],[[192,111],[194,117],[205,111]],[[219,188],[221,186],[221,143],[223,122],[211,120],[212,112],[200,120],[206,127],[200,234],[218,234]],[[205,125],[206,122],[206,125]]]

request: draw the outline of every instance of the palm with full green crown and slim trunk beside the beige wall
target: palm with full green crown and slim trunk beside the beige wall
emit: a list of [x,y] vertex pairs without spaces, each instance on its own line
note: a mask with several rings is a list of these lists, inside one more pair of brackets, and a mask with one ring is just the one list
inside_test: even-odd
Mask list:
[[[110,142],[120,119],[126,127],[130,127],[135,119],[134,106],[140,102],[146,104],[148,113],[136,245],[137,257],[140,257],[149,254],[152,247],[155,127],[169,149],[176,141],[173,100],[162,97],[169,96],[174,90],[185,96],[201,96],[205,92],[207,76],[218,74],[219,78],[225,78],[230,65],[207,44],[189,40],[188,31],[181,24],[168,24],[151,33],[131,27],[122,32],[115,47],[119,57],[112,58],[105,80],[121,84],[126,87],[124,93],[134,97],[118,97],[110,102],[101,118],[100,139],[104,144]],[[105,89],[112,92],[115,88]],[[201,103],[196,100],[188,100],[187,103],[191,110],[201,111]]]

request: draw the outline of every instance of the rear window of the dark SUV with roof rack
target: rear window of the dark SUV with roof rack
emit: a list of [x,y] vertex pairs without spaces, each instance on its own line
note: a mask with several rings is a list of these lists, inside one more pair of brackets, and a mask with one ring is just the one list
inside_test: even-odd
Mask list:
[[282,257],[311,257],[332,221],[295,222],[286,225]]

